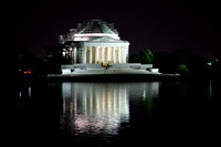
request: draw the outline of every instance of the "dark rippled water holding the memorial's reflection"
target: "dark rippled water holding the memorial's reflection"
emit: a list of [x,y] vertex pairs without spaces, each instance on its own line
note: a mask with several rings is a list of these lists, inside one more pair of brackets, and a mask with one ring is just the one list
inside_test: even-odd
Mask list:
[[22,144],[211,145],[219,96],[212,81],[24,84],[17,133]]

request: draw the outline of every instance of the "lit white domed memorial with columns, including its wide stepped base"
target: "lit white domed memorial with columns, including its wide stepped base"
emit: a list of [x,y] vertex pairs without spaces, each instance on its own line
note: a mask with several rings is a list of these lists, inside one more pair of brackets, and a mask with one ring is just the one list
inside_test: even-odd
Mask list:
[[[155,74],[152,64],[128,63],[129,42],[120,40],[113,23],[93,19],[59,36],[59,48],[46,50],[48,59],[62,59],[59,76]],[[56,59],[51,60],[59,63]],[[57,76],[49,74],[48,76]]]

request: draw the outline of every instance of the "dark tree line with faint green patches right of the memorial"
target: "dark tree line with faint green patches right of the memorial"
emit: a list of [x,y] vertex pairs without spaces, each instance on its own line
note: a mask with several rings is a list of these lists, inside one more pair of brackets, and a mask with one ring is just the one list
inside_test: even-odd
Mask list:
[[157,52],[155,54],[151,51],[143,50],[138,54],[131,55],[130,62],[154,64],[154,67],[159,69],[160,73],[179,73],[182,76],[198,76],[208,77],[220,74],[221,65],[220,61],[212,61],[210,66],[204,57],[194,53],[190,48],[178,49],[173,53]]

